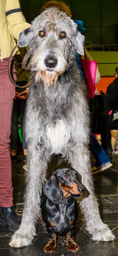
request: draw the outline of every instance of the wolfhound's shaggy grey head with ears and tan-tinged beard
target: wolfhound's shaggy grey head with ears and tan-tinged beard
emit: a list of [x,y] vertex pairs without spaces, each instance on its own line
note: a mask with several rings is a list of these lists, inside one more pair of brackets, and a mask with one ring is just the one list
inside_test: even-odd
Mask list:
[[19,47],[29,47],[36,80],[48,87],[83,55],[84,36],[74,21],[58,8],[48,8],[34,19],[30,28],[20,32]]

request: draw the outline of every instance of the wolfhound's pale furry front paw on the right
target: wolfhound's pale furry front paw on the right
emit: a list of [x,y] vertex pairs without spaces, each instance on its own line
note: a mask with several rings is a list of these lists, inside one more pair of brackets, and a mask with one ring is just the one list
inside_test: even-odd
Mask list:
[[115,239],[115,236],[106,225],[105,228],[96,230],[96,232],[94,232],[94,234],[92,235],[92,239],[107,242],[113,241]]

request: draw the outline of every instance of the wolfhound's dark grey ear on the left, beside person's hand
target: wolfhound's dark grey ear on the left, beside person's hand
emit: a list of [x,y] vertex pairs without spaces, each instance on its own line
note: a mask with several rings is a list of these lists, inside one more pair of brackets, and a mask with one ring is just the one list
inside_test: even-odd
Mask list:
[[29,46],[30,40],[31,40],[31,34],[32,34],[31,27],[26,28],[25,30],[22,30],[19,33],[18,46],[19,47]]

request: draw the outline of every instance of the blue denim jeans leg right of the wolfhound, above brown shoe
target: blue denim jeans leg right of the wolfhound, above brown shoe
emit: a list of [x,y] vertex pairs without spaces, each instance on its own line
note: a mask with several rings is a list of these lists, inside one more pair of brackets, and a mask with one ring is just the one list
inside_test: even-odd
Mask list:
[[90,150],[96,159],[96,163],[94,164],[96,167],[111,162],[92,132],[90,132]]

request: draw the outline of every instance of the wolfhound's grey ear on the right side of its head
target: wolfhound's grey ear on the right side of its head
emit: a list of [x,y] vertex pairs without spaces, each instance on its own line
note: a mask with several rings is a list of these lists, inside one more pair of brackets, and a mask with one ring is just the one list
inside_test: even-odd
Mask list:
[[76,50],[77,53],[84,55],[84,41],[85,41],[85,37],[79,32],[77,31],[77,35],[76,35]]

